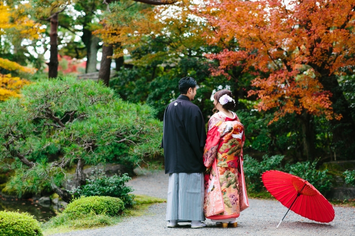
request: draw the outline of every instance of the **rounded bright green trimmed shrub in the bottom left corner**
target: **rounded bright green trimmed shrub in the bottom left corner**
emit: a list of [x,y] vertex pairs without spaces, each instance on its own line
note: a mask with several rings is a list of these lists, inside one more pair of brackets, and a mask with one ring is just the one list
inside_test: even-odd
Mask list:
[[32,215],[13,211],[0,211],[0,236],[42,236]]

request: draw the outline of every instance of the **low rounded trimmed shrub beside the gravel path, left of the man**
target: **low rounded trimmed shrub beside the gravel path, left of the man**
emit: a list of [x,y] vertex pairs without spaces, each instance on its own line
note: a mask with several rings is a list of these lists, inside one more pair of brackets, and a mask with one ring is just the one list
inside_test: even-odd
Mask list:
[[63,211],[74,219],[89,214],[119,215],[124,209],[121,199],[106,196],[80,197],[72,201]]

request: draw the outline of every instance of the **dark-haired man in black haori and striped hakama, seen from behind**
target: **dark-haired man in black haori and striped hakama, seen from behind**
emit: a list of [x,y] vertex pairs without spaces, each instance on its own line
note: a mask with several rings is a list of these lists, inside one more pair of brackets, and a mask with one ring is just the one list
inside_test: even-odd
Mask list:
[[204,174],[203,148],[206,129],[202,113],[191,101],[196,95],[196,80],[184,77],[179,81],[181,95],[164,113],[162,148],[165,174],[169,174],[168,227],[190,222],[191,228],[205,227],[203,213]]

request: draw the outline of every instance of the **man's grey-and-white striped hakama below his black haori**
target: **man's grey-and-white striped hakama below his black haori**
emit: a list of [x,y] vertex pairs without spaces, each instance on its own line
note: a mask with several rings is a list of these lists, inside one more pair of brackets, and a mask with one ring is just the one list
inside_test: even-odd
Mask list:
[[204,221],[204,195],[203,173],[169,174],[166,220]]

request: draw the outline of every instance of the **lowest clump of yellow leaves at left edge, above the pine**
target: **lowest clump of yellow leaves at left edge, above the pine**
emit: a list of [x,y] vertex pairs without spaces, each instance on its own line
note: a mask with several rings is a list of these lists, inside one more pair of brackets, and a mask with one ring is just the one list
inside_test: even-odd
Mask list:
[[10,74],[0,74],[0,101],[4,101],[9,97],[20,96],[18,94],[20,89],[30,83],[30,81],[21,79],[19,77],[11,77]]

